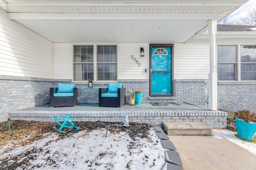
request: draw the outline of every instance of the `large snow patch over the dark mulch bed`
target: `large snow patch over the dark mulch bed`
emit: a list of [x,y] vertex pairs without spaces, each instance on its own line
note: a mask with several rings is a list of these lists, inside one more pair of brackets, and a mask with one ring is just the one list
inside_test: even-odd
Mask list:
[[[140,138],[132,141],[128,134],[111,134],[106,130],[90,133],[80,131],[72,137],[60,139],[54,134],[26,146],[0,147],[0,162],[18,155],[18,162],[31,159],[26,169],[161,169],[164,164],[164,150],[156,132],[150,130],[152,140]],[[28,156],[26,156],[26,153]],[[30,153],[30,154],[29,154]],[[25,154],[25,156],[23,155]],[[23,155],[23,156],[22,156]],[[10,163],[13,161],[10,160]],[[25,167],[20,167],[23,169]]]

